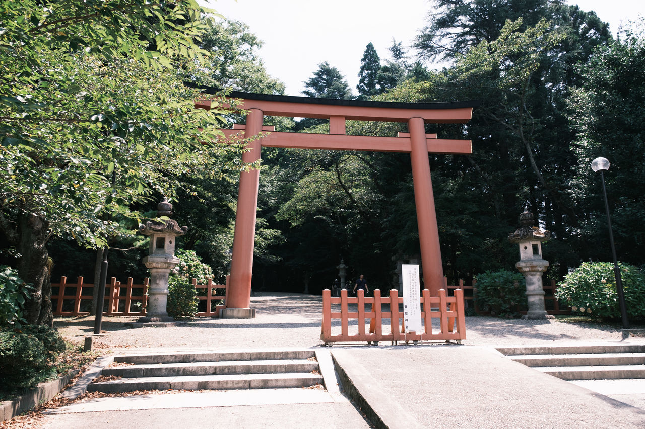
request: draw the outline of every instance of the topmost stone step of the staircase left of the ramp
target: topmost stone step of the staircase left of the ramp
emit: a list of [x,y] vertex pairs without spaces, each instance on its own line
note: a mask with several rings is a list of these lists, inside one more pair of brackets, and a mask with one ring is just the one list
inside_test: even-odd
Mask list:
[[160,354],[130,354],[115,356],[114,361],[144,365],[180,362],[309,359],[310,357],[315,357],[315,350],[257,350],[230,352],[170,352]]

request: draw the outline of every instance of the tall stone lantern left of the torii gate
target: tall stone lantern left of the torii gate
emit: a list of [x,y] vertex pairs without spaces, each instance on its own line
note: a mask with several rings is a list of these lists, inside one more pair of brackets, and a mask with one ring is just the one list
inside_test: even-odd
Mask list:
[[[166,197],[157,205],[157,217],[172,216],[172,204]],[[150,289],[148,289],[147,316],[140,318],[139,323],[174,322],[168,316],[166,303],[168,301],[168,275],[179,258],[175,257],[175,240],[188,232],[188,227],[179,227],[176,220],[152,220],[145,225],[139,225],[139,232],[150,236],[150,251],[143,258],[143,263],[150,269]]]

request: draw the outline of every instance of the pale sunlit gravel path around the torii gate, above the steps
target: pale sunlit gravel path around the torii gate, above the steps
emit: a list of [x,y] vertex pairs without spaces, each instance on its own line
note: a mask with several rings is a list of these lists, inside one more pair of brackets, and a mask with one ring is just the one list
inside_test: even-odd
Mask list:
[[[321,296],[281,292],[251,298],[255,319],[195,319],[183,327],[130,329],[136,317],[104,317],[108,335],[94,338],[94,348],[273,348],[320,347]],[[94,317],[57,318],[55,326],[75,343],[94,332]],[[350,328],[351,329],[351,328]],[[466,318],[466,345],[520,345],[551,341],[621,341],[619,329],[591,327],[558,320],[528,321],[486,316]],[[387,342],[389,344],[389,342]]]

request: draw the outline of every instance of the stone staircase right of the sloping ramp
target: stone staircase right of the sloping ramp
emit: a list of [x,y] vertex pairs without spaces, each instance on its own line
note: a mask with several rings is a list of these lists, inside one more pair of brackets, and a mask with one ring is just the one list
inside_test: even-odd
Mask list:
[[645,379],[645,345],[497,348],[513,361],[564,380]]

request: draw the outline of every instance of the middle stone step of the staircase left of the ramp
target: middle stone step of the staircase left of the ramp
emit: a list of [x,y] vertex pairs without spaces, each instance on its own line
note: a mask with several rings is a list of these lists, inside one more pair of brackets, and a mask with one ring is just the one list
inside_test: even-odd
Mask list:
[[286,372],[312,372],[318,362],[308,359],[264,359],[253,361],[179,362],[127,367],[105,368],[103,376],[164,377],[210,376],[225,374],[279,374]]

